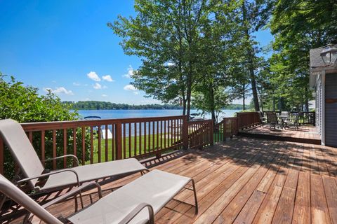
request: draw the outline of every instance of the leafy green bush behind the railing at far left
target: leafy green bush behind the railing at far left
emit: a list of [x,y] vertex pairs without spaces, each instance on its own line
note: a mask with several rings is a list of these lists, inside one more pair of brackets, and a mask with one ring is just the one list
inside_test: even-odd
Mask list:
[[[25,86],[23,83],[11,77],[6,81],[6,76],[0,73],[0,119],[11,118],[19,123],[45,122],[45,121],[62,121],[62,120],[77,120],[79,114],[70,111],[70,106],[62,104],[60,98],[55,94],[48,92],[46,96],[39,95],[38,89],[31,86]],[[88,134],[86,134],[88,135]],[[81,130],[77,130],[77,155],[82,158],[81,148]],[[73,133],[72,130],[67,130],[67,147],[68,152],[73,148]],[[45,135],[46,143],[46,158],[53,158],[53,133],[47,131]],[[86,145],[90,143],[90,138],[86,136]],[[38,155],[41,155],[41,133],[33,132],[33,146]],[[63,131],[56,131],[56,151],[57,155],[63,155]],[[89,154],[86,153],[86,156]],[[13,159],[6,149],[5,157],[5,174],[13,176]],[[70,162],[70,161],[69,161]],[[62,161],[58,163],[58,167],[62,165]],[[50,164],[46,167],[51,167]]]

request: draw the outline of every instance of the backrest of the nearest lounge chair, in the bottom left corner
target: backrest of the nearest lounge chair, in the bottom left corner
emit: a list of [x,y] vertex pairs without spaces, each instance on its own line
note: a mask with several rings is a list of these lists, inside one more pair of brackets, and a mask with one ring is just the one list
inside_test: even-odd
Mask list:
[[25,209],[40,218],[41,221],[51,224],[62,223],[2,175],[0,175],[0,192],[21,204],[22,207],[25,207]]

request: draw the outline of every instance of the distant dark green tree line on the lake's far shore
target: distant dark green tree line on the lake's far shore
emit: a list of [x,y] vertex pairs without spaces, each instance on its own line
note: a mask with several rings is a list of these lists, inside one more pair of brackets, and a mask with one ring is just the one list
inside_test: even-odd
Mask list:
[[[62,104],[70,106],[74,110],[181,110],[183,106],[175,104],[144,104],[144,105],[129,105],[129,104],[115,104],[112,102],[100,101],[79,101],[70,102],[65,101]],[[192,107],[192,109],[194,109]],[[241,104],[230,104],[223,109],[227,110],[242,110]]]

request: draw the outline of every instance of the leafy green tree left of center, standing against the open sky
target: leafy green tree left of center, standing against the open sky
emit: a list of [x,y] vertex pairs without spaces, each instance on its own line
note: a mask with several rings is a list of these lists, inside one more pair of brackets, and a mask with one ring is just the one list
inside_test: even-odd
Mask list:
[[213,1],[135,1],[135,18],[119,19],[107,25],[123,38],[127,55],[142,58],[133,73],[138,89],[162,102],[183,102],[190,115],[192,90],[200,74],[200,29],[208,20]]

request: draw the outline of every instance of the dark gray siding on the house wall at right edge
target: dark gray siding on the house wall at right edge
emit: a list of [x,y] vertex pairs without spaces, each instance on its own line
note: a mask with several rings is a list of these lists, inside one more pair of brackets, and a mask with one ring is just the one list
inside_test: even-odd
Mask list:
[[[337,73],[326,74],[325,99],[337,99]],[[325,104],[325,144],[337,147],[337,103]]]

